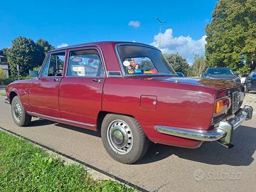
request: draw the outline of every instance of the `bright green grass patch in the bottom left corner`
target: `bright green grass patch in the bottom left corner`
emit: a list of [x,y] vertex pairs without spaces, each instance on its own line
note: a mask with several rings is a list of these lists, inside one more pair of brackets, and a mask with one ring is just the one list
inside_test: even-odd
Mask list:
[[0,131],[0,191],[134,191],[95,181],[78,164],[64,165],[43,149]]

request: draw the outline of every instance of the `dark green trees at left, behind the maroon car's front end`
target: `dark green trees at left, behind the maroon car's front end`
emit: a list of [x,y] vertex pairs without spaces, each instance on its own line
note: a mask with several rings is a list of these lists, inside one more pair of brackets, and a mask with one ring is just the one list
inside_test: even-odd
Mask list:
[[12,41],[11,48],[6,50],[11,75],[17,75],[17,65],[19,65],[21,76],[28,75],[29,70],[43,63],[47,51],[52,48],[53,46],[43,39],[34,43],[31,38],[18,36]]

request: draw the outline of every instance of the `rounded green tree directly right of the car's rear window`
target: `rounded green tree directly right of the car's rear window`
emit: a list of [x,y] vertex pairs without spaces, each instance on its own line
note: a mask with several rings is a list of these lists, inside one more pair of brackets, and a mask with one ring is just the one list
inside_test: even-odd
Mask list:
[[186,58],[183,58],[181,55],[178,55],[178,53],[168,53],[164,54],[166,59],[171,63],[171,66],[174,68],[177,72],[182,72],[184,74],[188,73],[188,62]]

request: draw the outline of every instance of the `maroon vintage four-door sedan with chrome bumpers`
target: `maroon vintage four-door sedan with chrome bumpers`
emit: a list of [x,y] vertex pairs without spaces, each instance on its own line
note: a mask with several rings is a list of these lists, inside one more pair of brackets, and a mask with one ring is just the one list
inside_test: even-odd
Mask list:
[[231,147],[233,130],[252,118],[252,107],[240,108],[242,85],[178,77],[159,49],[142,43],[50,50],[33,73],[6,87],[14,122],[23,127],[41,117],[100,131],[107,153],[124,164],[141,159],[149,141]]

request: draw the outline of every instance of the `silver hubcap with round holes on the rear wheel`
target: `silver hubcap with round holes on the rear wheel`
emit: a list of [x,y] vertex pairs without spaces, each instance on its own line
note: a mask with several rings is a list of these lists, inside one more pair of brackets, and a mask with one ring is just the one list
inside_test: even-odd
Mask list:
[[117,154],[127,154],[133,145],[132,130],[122,120],[114,120],[107,128],[107,140]]

